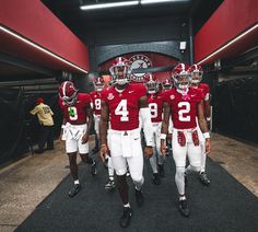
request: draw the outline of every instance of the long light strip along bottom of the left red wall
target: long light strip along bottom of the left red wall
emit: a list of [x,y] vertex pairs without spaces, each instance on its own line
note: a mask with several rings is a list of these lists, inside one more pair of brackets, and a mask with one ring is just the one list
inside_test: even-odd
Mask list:
[[35,44],[35,43],[28,40],[27,38],[22,37],[21,35],[16,34],[16,33],[14,33],[14,32],[12,32],[12,31],[10,31],[9,28],[3,27],[3,26],[0,25],[0,30],[1,30],[2,32],[4,32],[4,33],[7,33],[7,34],[9,34],[9,35],[11,35],[11,36],[13,36],[13,37],[15,37],[15,38],[22,40],[23,43],[30,45],[31,47],[34,47],[34,48],[36,48],[36,49],[38,49],[38,50],[40,50],[40,51],[43,51],[43,53],[45,53],[45,54],[47,54],[47,55],[54,57],[55,59],[58,59],[58,60],[64,62],[66,65],[69,65],[69,66],[71,66],[72,68],[75,68],[75,69],[80,70],[81,72],[87,73],[87,71],[86,71],[85,69],[82,69],[82,68],[80,68],[79,66],[73,65],[72,62],[70,62],[70,61],[68,61],[68,60],[66,60],[66,59],[59,57],[58,55],[56,55],[56,54],[54,54],[54,53],[47,50],[46,48],[44,48],[44,47],[42,47],[42,46],[39,46],[39,45],[37,45],[37,44]]

